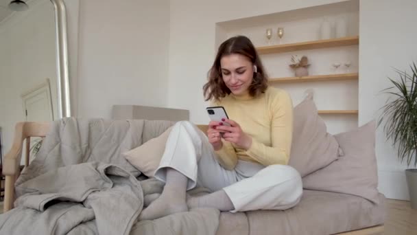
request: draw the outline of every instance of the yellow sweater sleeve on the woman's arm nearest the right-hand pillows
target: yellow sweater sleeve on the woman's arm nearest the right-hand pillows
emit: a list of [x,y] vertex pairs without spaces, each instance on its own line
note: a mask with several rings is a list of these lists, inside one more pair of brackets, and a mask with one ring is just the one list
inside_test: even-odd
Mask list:
[[293,108],[291,98],[286,92],[281,93],[270,103],[271,145],[265,146],[252,138],[252,146],[246,151],[249,157],[263,166],[274,164],[287,165],[291,150],[293,131]]

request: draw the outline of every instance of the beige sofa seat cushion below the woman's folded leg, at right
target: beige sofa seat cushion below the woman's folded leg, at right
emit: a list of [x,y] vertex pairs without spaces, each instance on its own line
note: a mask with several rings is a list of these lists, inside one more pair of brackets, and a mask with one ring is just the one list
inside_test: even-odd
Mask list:
[[[385,200],[382,194],[378,199]],[[381,225],[385,221],[385,208],[383,203],[374,204],[349,194],[304,190],[294,208],[256,210],[246,215],[250,229],[246,234],[322,235]],[[220,221],[219,226],[222,223],[230,221]],[[217,235],[224,234],[226,231]]]

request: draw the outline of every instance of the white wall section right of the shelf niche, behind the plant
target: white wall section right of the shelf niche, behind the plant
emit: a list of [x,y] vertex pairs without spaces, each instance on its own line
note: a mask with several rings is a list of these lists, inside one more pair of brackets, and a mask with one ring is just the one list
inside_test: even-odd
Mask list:
[[[409,70],[417,61],[417,16],[415,0],[361,0],[359,45],[359,124],[378,117],[378,110],[391,87],[388,76],[398,78],[394,69]],[[392,142],[377,131],[379,189],[386,197],[408,199],[404,170],[396,159]]]

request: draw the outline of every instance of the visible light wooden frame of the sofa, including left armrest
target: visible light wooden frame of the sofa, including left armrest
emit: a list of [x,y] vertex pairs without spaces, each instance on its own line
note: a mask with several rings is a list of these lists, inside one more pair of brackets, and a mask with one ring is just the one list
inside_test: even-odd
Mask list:
[[[20,174],[21,155],[23,143],[26,144],[25,166],[29,165],[29,144],[31,137],[45,137],[49,131],[49,123],[41,122],[19,122],[16,124],[12,149],[5,155],[3,165],[3,175],[5,175],[5,198],[3,212],[13,208],[14,203],[14,183]],[[206,133],[207,125],[197,125],[200,130]],[[351,232],[342,232],[344,235],[370,235],[382,234],[383,225],[364,228]]]

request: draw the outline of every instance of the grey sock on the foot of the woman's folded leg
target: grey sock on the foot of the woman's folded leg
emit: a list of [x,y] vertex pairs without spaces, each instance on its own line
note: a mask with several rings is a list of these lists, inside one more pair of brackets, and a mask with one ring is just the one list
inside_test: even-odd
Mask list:
[[235,206],[224,190],[200,197],[188,197],[187,205],[191,208],[217,208],[222,212],[234,210]]

